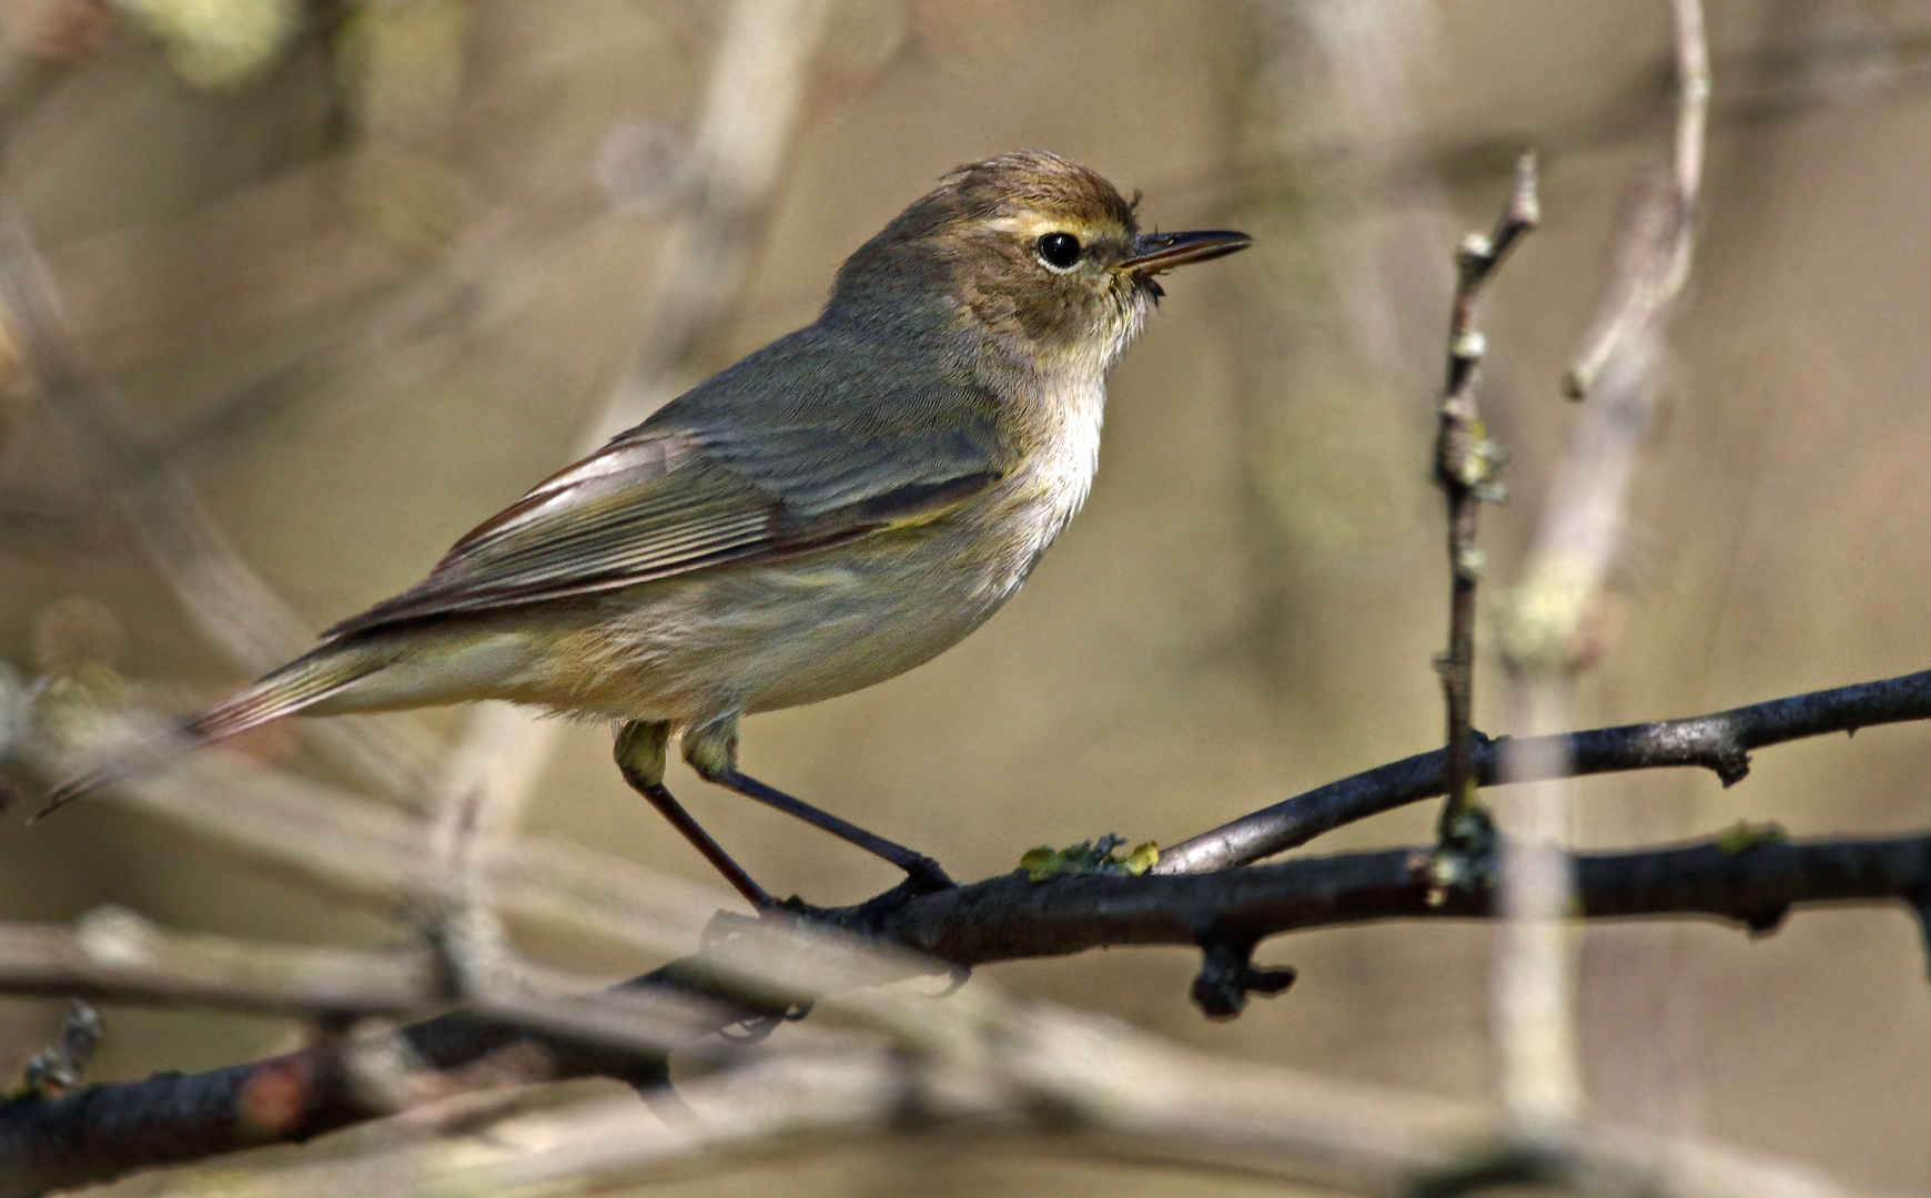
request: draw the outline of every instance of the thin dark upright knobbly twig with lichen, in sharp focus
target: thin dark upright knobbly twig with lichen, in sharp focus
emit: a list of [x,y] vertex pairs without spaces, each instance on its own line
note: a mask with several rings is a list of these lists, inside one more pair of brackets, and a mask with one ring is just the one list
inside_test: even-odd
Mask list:
[[1535,199],[1535,154],[1516,164],[1516,185],[1495,231],[1469,233],[1456,247],[1454,311],[1448,322],[1448,382],[1441,401],[1435,442],[1435,478],[1448,496],[1448,654],[1439,662],[1448,708],[1448,803],[1442,806],[1441,839],[1456,851],[1479,851],[1487,814],[1475,799],[1475,586],[1481,550],[1475,523],[1483,500],[1500,498],[1500,446],[1489,440],[1475,403],[1475,378],[1487,341],[1475,328],[1483,287],[1524,233],[1541,220]]

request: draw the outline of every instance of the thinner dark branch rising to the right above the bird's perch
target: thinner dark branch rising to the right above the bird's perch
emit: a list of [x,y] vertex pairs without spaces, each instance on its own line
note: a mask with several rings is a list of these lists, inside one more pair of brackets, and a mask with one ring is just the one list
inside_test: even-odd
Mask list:
[[[1931,720],[1931,669],[1688,720],[1626,723],[1520,741],[1477,737],[1473,766],[1479,785],[1495,785],[1504,774],[1510,781],[1541,781],[1668,766],[1703,766],[1713,770],[1722,785],[1732,785],[1749,774],[1753,749],[1908,720]],[[1506,770],[1504,756],[1514,762]],[[1545,762],[1568,764],[1553,772]],[[1446,752],[1419,752],[1330,781],[1172,845],[1161,853],[1153,872],[1199,874],[1249,864],[1305,845],[1344,824],[1446,793]]]

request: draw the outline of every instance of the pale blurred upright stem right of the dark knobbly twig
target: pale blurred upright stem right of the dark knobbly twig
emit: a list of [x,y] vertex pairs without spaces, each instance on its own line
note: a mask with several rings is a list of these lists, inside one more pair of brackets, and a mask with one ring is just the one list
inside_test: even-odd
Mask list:
[[1583,1096],[1574,1013],[1576,909],[1568,851],[1574,783],[1566,747],[1537,733],[1570,727],[1576,673],[1603,652],[1593,633],[1605,579],[1624,525],[1630,478],[1655,413],[1661,334],[1690,276],[1693,216],[1703,172],[1709,52],[1699,0],[1676,12],[1676,145],[1672,172],[1637,187],[1616,239],[1603,313],[1564,390],[1589,407],[1556,469],[1543,519],[1510,596],[1500,644],[1518,679],[1516,727],[1539,752],[1516,752],[1502,845],[1502,924],[1495,955],[1495,1030],[1502,1102],[1516,1132],[1549,1142],[1574,1127]]

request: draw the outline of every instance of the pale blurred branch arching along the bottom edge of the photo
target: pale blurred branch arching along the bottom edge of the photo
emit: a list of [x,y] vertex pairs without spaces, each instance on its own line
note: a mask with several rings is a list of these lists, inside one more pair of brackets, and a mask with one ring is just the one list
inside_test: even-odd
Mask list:
[[[1458,1192],[1452,1179],[1547,1179],[1659,1198],[1852,1194],[1755,1154],[1603,1125],[1578,1129],[1560,1161],[1479,1148],[1471,1161],[1483,1119],[1456,1103],[1230,1065],[1060,1011],[1025,1015],[950,1051],[761,1059],[684,1086],[693,1119],[658,1121],[635,1102],[585,1100],[498,1121],[485,1144],[404,1142],[299,1163],[272,1175],[272,1192],[574,1190],[724,1171],[778,1138],[836,1146],[950,1132],[964,1152],[996,1136],[1002,1152],[1033,1146],[1052,1157],[1182,1163],[1367,1194]],[[1545,1167],[1535,1173],[1535,1165]],[[1415,1188],[1417,1175],[1431,1188]],[[259,1186],[230,1171],[195,1171],[162,1192],[238,1198]]]

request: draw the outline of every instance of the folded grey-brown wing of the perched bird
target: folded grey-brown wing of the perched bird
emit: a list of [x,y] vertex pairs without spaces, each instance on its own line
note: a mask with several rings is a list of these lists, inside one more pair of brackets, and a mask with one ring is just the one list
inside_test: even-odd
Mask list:
[[[539,482],[458,540],[427,579],[326,637],[937,519],[1002,476],[994,401],[913,378],[902,351],[823,330],[784,338]],[[852,405],[852,386],[877,403]]]

